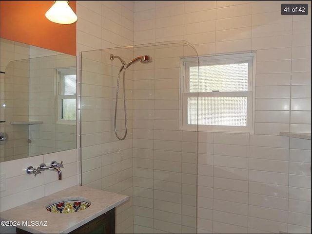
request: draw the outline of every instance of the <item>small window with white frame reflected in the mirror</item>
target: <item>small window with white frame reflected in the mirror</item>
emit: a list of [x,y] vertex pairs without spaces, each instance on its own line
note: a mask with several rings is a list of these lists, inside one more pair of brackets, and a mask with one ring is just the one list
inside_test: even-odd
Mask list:
[[57,123],[76,124],[76,69],[57,70]]

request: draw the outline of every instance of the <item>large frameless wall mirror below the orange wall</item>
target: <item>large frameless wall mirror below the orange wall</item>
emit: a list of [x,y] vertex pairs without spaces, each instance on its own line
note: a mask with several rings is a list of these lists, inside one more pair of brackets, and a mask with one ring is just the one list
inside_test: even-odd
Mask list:
[[0,162],[76,148],[76,56],[0,38]]

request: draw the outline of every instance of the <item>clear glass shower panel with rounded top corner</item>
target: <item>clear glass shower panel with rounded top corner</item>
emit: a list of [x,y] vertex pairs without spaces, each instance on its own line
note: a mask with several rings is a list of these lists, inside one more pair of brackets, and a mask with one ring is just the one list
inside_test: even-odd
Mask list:
[[[82,185],[129,196],[117,233],[196,233],[197,131],[179,130],[180,59],[190,56],[185,41],[81,53]],[[125,140],[114,131],[118,73]]]

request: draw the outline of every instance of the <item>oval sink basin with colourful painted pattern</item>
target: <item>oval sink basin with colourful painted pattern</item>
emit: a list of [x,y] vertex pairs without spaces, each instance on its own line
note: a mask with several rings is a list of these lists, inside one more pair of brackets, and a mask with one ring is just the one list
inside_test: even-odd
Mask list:
[[70,197],[59,198],[50,201],[46,205],[46,210],[57,214],[70,214],[87,209],[91,201],[86,198]]

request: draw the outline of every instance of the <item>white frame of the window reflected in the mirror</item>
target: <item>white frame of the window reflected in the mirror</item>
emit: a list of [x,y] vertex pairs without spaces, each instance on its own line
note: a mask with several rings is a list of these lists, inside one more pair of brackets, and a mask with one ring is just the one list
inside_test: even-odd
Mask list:
[[[57,124],[64,124],[64,125],[76,125],[76,120],[65,120],[62,119],[62,99],[76,99],[76,94],[73,95],[64,95],[63,94],[63,77],[62,73],[75,73],[76,74],[76,68],[58,68],[57,69]],[[76,74],[77,78],[77,74]],[[77,82],[76,82],[77,83]],[[76,85],[77,86],[77,85]],[[77,89],[77,87],[76,87]],[[76,99],[76,109],[77,109],[77,99]],[[77,119],[77,116],[76,116]]]

